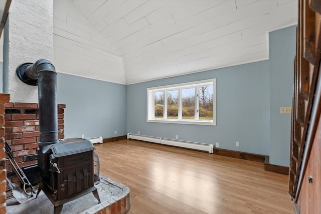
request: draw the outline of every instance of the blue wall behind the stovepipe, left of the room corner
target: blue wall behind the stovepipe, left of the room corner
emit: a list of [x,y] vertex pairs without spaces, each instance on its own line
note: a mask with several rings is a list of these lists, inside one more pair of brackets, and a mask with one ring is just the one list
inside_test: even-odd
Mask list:
[[125,85],[58,73],[57,88],[66,138],[126,135]]

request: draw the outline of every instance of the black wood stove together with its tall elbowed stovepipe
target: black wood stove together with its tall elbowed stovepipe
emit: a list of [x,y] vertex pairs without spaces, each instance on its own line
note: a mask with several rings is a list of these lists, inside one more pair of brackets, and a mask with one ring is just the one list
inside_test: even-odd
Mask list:
[[38,167],[41,190],[60,213],[64,203],[90,192],[100,203],[94,186],[95,149],[89,140],[70,138],[58,140],[57,73],[47,60],[25,63],[17,68],[18,77],[29,85],[38,85],[40,141]]

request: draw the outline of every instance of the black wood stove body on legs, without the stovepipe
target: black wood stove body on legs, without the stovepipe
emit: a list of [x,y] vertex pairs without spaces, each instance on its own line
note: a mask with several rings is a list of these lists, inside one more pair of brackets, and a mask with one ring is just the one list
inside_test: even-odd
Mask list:
[[[64,203],[92,192],[100,202],[94,186],[93,147],[89,140],[69,138],[52,144],[44,154],[38,151],[38,166],[46,168],[48,154],[49,170],[43,170],[42,182],[37,192],[45,192],[54,204],[54,213],[60,213]],[[47,159],[47,160],[45,160]],[[49,172],[49,173],[48,173]]]

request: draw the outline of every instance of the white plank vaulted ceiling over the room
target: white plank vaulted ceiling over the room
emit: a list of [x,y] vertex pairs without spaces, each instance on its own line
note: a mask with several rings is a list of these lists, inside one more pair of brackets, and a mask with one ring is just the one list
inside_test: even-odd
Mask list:
[[266,60],[297,0],[55,0],[57,70],[133,84]]

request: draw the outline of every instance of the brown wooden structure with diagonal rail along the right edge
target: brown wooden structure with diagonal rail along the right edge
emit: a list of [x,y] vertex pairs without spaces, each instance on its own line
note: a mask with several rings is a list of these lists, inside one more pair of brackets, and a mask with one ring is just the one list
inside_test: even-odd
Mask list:
[[321,0],[298,4],[289,193],[299,213],[321,213]]

